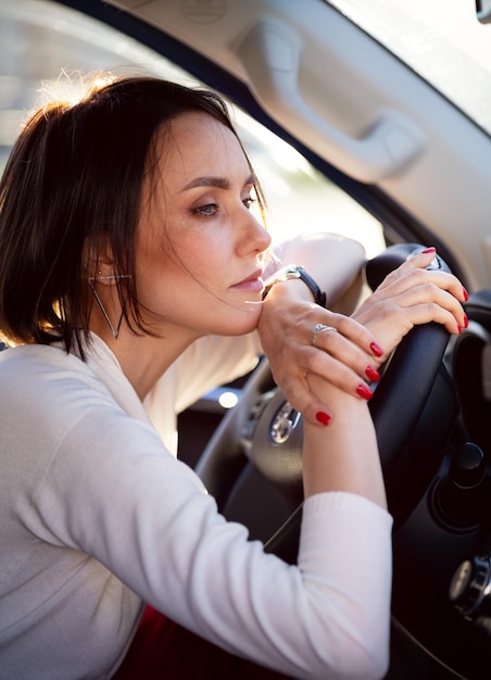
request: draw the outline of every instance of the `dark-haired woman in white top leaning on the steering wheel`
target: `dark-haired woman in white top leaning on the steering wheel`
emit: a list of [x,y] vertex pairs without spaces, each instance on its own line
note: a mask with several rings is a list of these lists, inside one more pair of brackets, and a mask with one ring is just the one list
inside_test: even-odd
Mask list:
[[[0,327],[21,345],[0,357],[1,678],[136,677],[135,658],[141,678],[385,673],[391,518],[365,380],[414,324],[458,332],[465,291],[425,269],[429,250],[362,325],[314,302],[318,285],[350,297],[360,248],[306,239],[282,257],[312,278],[263,301],[279,265],[257,189],[221,100],[153,78],[53,103],[21,134],[0,187]],[[293,567],[169,452],[169,411],[239,350],[246,369],[257,327],[305,415]],[[168,617],[153,647],[144,603]]]

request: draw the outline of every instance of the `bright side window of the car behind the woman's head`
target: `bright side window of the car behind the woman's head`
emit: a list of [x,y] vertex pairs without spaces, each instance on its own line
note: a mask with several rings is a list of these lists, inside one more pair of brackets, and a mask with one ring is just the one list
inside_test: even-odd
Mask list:
[[[51,91],[68,96],[83,75],[149,73],[201,85],[130,37],[48,0],[0,4],[0,171],[27,113]],[[264,187],[274,238],[326,230],[385,248],[380,224],[292,147],[238,109],[234,119]]]

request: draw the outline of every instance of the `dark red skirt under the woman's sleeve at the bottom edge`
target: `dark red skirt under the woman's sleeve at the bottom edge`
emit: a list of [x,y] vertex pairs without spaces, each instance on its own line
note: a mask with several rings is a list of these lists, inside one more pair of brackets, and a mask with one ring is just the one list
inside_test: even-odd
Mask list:
[[114,680],[289,680],[203,640],[147,606]]

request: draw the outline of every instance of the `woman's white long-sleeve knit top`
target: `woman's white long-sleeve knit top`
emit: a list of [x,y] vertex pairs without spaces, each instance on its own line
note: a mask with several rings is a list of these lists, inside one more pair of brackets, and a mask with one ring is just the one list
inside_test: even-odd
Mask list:
[[292,677],[383,675],[388,513],[309,499],[289,566],[218,514],[99,339],[88,363],[2,352],[0,385],[1,680],[111,677],[144,602]]

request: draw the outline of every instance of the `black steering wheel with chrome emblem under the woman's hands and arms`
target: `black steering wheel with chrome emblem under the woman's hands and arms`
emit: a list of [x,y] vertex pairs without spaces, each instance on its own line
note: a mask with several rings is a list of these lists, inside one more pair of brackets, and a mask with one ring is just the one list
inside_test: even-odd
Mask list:
[[[392,245],[369,261],[370,288],[423,248]],[[438,256],[430,267],[449,270]],[[369,407],[386,481],[423,413],[448,340],[439,324],[413,328],[375,386]],[[303,500],[302,418],[273,381],[266,360],[249,378],[238,405],[224,416],[196,469],[226,516],[246,524],[266,550],[290,562],[295,558]],[[263,493],[274,496],[265,507],[260,503]]]

